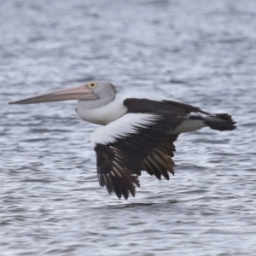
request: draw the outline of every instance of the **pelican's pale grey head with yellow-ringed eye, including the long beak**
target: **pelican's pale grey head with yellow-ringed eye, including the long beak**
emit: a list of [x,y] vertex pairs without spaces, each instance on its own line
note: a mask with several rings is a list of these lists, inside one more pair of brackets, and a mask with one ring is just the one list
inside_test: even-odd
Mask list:
[[91,81],[87,84],[62,90],[52,90],[43,94],[28,97],[9,104],[32,104],[42,102],[61,102],[69,100],[79,101],[113,101],[115,89],[108,81]]

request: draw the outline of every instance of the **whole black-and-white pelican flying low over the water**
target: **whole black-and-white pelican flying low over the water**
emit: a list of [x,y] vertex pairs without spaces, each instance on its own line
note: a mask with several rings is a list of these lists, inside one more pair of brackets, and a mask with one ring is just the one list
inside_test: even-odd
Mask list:
[[97,176],[108,193],[120,199],[135,196],[142,171],[158,179],[174,175],[173,142],[183,132],[210,127],[218,131],[236,129],[227,113],[207,113],[182,102],[159,100],[154,96],[116,97],[113,84],[91,81],[54,90],[9,104],[32,104],[79,100],[76,112],[81,119],[103,125],[90,136],[96,151]]

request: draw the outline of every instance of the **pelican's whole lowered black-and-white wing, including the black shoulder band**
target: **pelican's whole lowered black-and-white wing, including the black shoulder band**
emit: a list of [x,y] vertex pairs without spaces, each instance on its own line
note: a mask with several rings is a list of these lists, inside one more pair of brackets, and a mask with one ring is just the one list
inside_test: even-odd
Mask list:
[[[157,178],[169,179],[174,174],[172,134],[188,113],[200,112],[179,102],[154,102],[126,99],[127,113],[101,127],[91,136],[95,146],[97,174],[100,185],[120,198],[135,195],[142,171]],[[136,108],[136,105],[138,105]]]

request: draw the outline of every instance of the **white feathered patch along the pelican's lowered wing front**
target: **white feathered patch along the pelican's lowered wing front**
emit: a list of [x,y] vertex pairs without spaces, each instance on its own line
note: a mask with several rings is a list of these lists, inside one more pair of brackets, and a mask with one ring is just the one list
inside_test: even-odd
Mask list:
[[99,128],[90,135],[90,143],[96,144],[115,143],[120,137],[137,133],[137,128],[147,128],[147,125],[157,124],[162,116],[154,113],[126,113],[112,123]]

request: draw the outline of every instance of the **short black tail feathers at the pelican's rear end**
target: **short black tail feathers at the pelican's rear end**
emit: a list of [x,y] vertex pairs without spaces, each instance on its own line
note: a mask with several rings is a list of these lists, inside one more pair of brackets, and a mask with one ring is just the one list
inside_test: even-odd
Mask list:
[[205,118],[205,124],[213,130],[232,131],[236,129],[236,122],[228,113],[216,113]]

